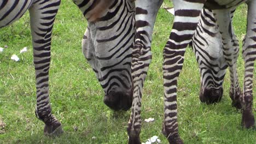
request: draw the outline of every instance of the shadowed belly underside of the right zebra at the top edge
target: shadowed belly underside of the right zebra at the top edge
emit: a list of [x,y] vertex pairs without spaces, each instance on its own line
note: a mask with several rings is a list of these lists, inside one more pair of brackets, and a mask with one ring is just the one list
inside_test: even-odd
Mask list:
[[247,0],[207,0],[205,3],[205,8],[208,9],[226,9],[236,7]]

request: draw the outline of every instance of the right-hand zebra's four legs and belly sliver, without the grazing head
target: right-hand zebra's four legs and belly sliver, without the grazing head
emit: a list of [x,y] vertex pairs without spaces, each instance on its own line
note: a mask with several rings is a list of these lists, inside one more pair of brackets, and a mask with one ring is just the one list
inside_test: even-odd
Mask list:
[[[132,52],[132,78],[133,101],[131,116],[127,133],[129,143],[141,143],[141,98],[144,80],[152,58],[150,45],[156,14],[162,4],[162,0],[135,1],[136,5],[136,39]],[[256,59],[256,1],[246,0],[173,0],[174,23],[173,28],[164,47],[163,77],[164,77],[164,122],[162,133],[170,143],[183,143],[178,133],[177,123],[177,80],[182,70],[185,49],[193,37],[200,19],[203,7],[212,9],[222,39],[222,50],[229,66],[231,75],[231,97],[234,104],[242,109],[242,126],[254,127],[254,115],[252,110],[253,97],[253,68]],[[236,61],[238,56],[238,40],[232,27],[230,11],[241,3],[247,3],[247,33],[243,40],[243,59],[245,61],[245,77],[243,92],[240,93],[237,80]],[[207,22],[207,20],[206,20]],[[211,23],[206,23],[211,24]],[[233,95],[234,94],[234,95]],[[237,97],[238,98],[237,98]],[[237,98],[237,99],[236,99]],[[238,107],[239,108],[239,107]]]

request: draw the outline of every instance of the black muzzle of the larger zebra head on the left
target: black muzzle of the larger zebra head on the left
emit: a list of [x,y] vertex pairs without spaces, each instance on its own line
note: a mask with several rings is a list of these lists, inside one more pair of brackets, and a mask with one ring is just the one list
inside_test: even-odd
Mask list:
[[133,90],[127,92],[109,92],[104,96],[104,104],[114,111],[127,111],[132,105]]

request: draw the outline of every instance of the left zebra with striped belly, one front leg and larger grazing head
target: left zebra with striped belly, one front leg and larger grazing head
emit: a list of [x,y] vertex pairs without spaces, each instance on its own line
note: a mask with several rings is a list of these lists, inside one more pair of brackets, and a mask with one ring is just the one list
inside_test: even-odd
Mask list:
[[[61,123],[51,113],[49,68],[51,32],[60,0],[0,1],[0,28],[30,11],[36,116],[45,123],[44,134],[59,135]],[[73,1],[88,20],[83,52],[104,89],[104,103],[114,110],[132,104],[131,48],[135,37],[135,3],[132,0]]]

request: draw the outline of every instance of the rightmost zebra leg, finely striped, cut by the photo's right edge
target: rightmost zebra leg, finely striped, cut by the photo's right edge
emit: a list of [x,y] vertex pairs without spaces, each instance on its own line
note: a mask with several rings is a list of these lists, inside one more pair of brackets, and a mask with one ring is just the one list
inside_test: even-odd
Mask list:
[[[253,115],[253,70],[256,60],[256,1],[249,1],[247,14],[247,32],[243,40],[243,59],[245,61],[245,77],[243,94],[240,97],[242,104],[242,126],[255,127]],[[255,74],[255,73],[254,73]]]

